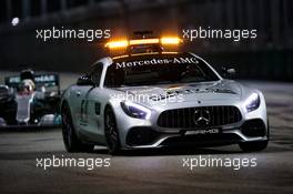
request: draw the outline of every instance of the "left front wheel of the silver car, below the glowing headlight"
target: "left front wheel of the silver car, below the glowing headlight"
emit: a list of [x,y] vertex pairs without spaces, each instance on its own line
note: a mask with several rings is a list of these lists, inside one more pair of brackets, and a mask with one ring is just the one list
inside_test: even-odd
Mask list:
[[104,135],[109,153],[117,154],[120,150],[119,132],[114,113],[110,106],[104,112]]

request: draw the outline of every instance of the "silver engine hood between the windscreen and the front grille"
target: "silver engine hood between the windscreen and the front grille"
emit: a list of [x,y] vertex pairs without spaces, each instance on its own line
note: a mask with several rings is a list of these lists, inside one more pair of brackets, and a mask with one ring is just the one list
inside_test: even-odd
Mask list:
[[[127,94],[128,100],[134,99],[141,104],[160,103],[170,98],[176,102],[240,100],[242,98],[242,84],[231,80],[215,82],[160,84],[146,86],[125,86],[115,89]],[[132,99],[131,99],[132,98]],[[171,99],[170,99],[171,101]],[[173,102],[174,102],[173,101]]]

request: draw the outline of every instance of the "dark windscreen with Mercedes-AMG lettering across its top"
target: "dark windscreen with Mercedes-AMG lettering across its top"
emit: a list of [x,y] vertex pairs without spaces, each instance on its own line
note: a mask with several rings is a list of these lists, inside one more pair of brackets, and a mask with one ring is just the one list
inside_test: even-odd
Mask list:
[[216,80],[218,75],[191,54],[145,54],[114,60],[108,68],[104,85],[140,86]]

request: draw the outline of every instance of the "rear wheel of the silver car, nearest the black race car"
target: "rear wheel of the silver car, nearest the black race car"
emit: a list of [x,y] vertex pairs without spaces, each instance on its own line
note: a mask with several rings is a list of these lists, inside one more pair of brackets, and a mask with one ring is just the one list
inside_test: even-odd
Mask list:
[[72,123],[70,108],[67,103],[61,109],[62,115],[62,136],[68,152],[91,152],[94,145],[82,143],[77,134]]

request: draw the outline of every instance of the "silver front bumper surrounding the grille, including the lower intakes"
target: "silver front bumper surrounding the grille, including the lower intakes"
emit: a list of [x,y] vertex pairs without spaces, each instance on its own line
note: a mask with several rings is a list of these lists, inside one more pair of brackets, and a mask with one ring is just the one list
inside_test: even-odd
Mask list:
[[[198,105],[198,104],[196,104]],[[201,106],[230,105],[231,102],[209,102]],[[247,112],[242,102],[232,103],[241,113],[241,120],[225,125],[212,127],[161,127],[158,125],[159,115],[164,111],[155,110],[151,120],[133,119],[124,114],[120,109],[115,109],[120,143],[122,149],[149,149],[172,145],[222,145],[240,142],[267,141],[269,123],[266,106],[263,95],[261,95],[260,106]],[[184,104],[181,108],[191,108],[194,104]],[[168,108],[165,110],[174,109]],[[210,133],[210,131],[216,133]]]

